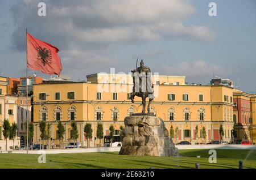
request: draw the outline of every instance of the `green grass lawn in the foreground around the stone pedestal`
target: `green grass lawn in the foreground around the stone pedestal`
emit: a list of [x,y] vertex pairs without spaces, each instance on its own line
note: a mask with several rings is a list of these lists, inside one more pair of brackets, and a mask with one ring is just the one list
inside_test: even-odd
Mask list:
[[[39,164],[39,155],[0,154],[0,168],[256,168],[256,150],[216,149],[217,163],[208,162],[208,149],[180,150],[181,157],[124,156],[118,152],[66,153],[46,155],[46,164]],[[197,158],[196,156],[201,156]]]

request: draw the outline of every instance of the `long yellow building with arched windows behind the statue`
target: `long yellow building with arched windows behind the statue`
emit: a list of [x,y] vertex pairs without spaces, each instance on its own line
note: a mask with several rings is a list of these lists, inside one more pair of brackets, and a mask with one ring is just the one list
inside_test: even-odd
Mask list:
[[[98,122],[104,125],[104,135],[109,134],[110,125],[114,125],[117,134],[125,117],[142,111],[141,98],[135,97],[134,104],[129,99],[133,87],[129,75],[93,74],[86,77],[88,82],[34,85],[34,143],[40,142],[39,121],[42,120],[52,124],[51,137],[56,145],[59,144],[56,138],[59,121],[65,126],[64,144],[72,142],[70,124],[71,120],[75,120],[79,128],[77,140],[82,146],[86,146],[83,130],[87,122],[92,123],[93,127],[91,146],[98,146],[99,141],[95,140]],[[232,88],[223,85],[185,85],[184,76],[153,76],[152,79],[155,99],[151,112],[163,119],[169,132],[172,126],[175,142],[221,139],[218,133],[220,125],[225,132],[222,139],[231,139]],[[196,126],[198,138],[195,135]]]

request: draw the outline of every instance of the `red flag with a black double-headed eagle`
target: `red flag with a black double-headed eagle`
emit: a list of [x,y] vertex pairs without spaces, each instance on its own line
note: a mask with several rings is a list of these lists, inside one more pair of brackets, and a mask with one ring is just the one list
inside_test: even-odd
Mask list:
[[59,49],[27,33],[27,67],[44,74],[60,75]]

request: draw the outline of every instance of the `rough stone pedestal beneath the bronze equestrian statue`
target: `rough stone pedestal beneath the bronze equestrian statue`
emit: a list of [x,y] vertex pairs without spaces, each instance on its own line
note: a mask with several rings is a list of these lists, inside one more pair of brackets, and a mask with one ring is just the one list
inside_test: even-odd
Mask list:
[[125,118],[119,155],[178,156],[179,152],[161,118],[133,115]]

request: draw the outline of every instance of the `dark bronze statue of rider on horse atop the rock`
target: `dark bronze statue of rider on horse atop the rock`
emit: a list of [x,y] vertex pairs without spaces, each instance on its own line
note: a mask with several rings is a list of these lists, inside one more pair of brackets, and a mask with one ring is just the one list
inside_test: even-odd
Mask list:
[[[137,59],[137,62],[138,62],[138,59]],[[136,68],[137,68],[137,65],[136,65]],[[141,97],[142,106],[143,106],[142,113],[145,113],[146,98],[148,97],[149,100],[148,100],[147,112],[150,113],[150,104],[152,100],[154,100],[154,86],[152,84],[150,67],[144,66],[143,59],[141,59],[141,66],[131,72],[133,72],[133,84],[134,84],[133,92],[131,93],[131,102],[134,103],[135,96]],[[135,76],[138,76],[137,78],[139,78],[139,82],[137,83],[135,82]],[[144,79],[143,79],[143,76],[144,76]],[[146,83],[143,82],[143,80],[144,81],[146,80]],[[139,87],[135,88],[135,85],[139,85]],[[143,85],[146,85],[146,87],[143,87]],[[135,90],[137,90],[137,92],[135,92]]]

